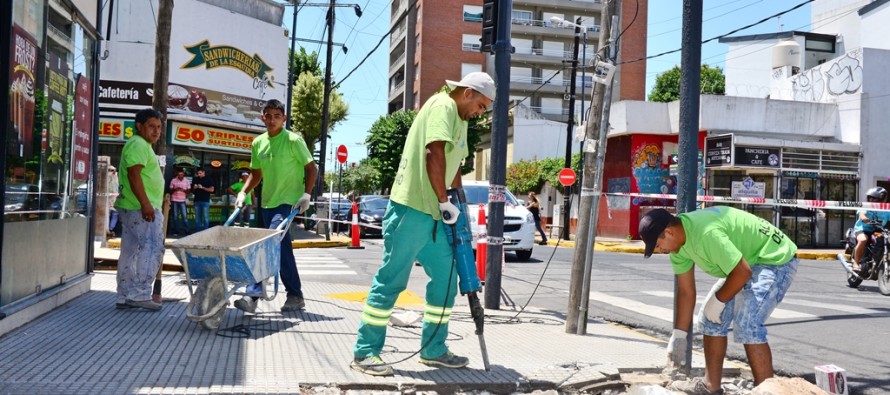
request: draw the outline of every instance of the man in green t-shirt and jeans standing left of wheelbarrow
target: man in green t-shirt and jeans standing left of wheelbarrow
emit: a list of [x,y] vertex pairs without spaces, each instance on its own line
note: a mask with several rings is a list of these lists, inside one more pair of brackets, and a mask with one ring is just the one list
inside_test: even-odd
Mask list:
[[116,307],[158,311],[161,304],[152,301],[151,292],[164,256],[164,174],[151,146],[161,138],[161,113],[137,112],[136,131],[121,151],[121,192],[115,202],[123,226]]

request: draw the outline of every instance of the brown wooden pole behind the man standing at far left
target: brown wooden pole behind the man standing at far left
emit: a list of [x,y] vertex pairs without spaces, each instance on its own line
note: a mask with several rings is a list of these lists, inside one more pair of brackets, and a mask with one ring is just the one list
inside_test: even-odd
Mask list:
[[[151,106],[161,112],[161,138],[158,152],[164,155],[164,184],[173,179],[173,146],[167,144],[167,85],[170,80],[170,31],[173,25],[173,0],[158,0],[158,30],[155,34],[155,75]],[[123,169],[121,171],[124,171]],[[167,218],[164,218],[166,221]],[[167,227],[164,226],[166,236]],[[155,276],[152,299],[161,302],[161,264]]]

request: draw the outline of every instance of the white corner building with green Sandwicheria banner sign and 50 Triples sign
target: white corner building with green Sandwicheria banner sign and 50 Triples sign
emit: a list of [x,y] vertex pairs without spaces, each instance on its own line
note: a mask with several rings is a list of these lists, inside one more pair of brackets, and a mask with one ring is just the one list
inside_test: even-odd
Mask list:
[[[152,7],[118,1],[102,10],[108,41],[102,48],[99,154],[111,157],[115,166],[136,132],[133,115],[152,105],[156,32],[154,23],[145,23]],[[287,103],[289,39],[281,27],[283,15],[282,4],[266,0],[177,0],[173,7],[168,162],[188,178],[203,168],[215,182],[211,223],[231,210],[225,191],[249,167],[250,145],[265,131],[263,105],[270,99]],[[196,23],[199,19],[214,22]],[[191,216],[191,203],[188,207]]]

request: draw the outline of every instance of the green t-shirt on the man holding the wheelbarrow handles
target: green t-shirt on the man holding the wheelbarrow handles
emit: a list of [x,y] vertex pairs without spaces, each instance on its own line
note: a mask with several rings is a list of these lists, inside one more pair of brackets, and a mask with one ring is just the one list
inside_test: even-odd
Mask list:
[[306,191],[307,164],[312,153],[299,134],[282,129],[275,137],[259,135],[250,147],[250,167],[263,171],[263,207],[293,205]]

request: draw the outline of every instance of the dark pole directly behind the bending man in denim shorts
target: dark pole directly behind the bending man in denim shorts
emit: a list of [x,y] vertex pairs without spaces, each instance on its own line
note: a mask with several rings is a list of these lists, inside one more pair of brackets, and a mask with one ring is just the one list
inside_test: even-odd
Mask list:
[[[695,211],[698,175],[698,115],[701,92],[702,0],[683,0],[683,50],[680,54],[680,136],[677,162],[677,213]],[[674,299],[677,298],[674,277]],[[674,309],[674,328],[677,326]],[[692,366],[692,329],[686,335],[686,364]]]

